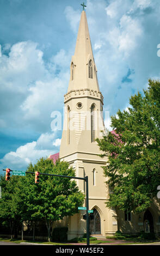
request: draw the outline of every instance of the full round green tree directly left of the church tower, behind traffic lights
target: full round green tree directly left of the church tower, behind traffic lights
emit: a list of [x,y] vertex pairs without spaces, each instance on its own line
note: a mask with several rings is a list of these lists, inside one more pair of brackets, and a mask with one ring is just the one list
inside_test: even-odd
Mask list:
[[[34,166],[30,164],[27,171],[75,176],[67,162],[57,161],[54,164],[51,159],[43,157]],[[17,192],[22,204],[20,214],[23,221],[45,220],[50,241],[53,222],[75,214],[78,206],[83,204],[84,195],[75,180],[41,174],[39,180],[39,184],[34,184],[33,174],[21,177]]]

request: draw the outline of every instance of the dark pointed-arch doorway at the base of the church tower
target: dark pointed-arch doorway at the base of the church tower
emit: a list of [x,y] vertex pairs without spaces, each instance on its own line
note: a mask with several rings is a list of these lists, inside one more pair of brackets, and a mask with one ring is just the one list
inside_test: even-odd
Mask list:
[[101,218],[96,209],[89,215],[89,225],[91,234],[101,234]]

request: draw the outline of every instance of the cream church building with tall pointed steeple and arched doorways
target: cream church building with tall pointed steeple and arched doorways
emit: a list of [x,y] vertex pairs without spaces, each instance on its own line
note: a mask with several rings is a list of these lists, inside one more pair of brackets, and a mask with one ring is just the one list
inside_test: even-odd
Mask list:
[[[75,54],[70,63],[70,81],[64,95],[64,127],[59,154],[50,156],[53,161],[59,157],[75,168],[77,177],[88,176],[90,233],[106,237],[117,230],[136,233],[145,230],[160,233],[160,209],[158,199],[152,207],[139,215],[126,214],[106,207],[109,188],[102,166],[107,158],[101,158],[101,151],[95,139],[106,135],[103,122],[103,95],[97,80],[97,69],[91,47],[87,16],[82,11],[76,41]],[[85,182],[76,180],[85,194]],[[86,206],[86,202],[84,205]],[[86,233],[85,210],[66,217],[63,225],[68,227],[68,239]]]

